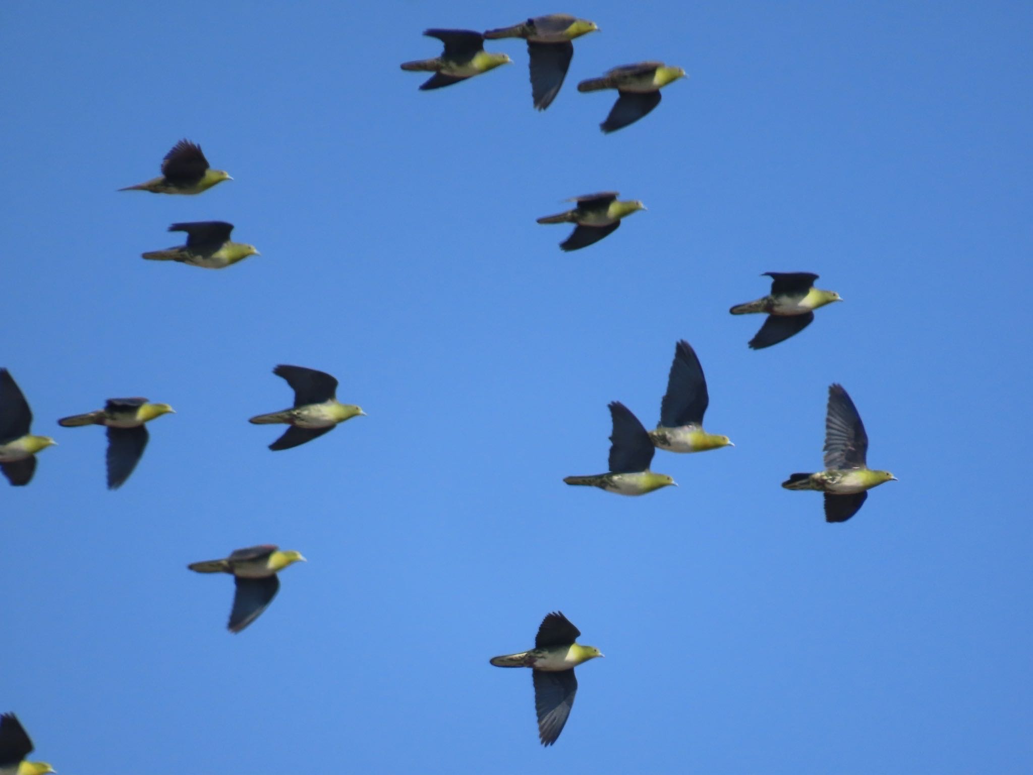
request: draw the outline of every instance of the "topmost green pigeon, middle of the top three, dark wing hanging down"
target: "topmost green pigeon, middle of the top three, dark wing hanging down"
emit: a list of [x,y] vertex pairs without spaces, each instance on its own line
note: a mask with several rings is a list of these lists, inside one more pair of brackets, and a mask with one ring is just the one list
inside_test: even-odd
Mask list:
[[527,53],[531,58],[531,97],[534,106],[544,111],[560,93],[573,59],[574,44],[570,41],[598,30],[595,22],[587,19],[577,19],[569,13],[551,13],[512,27],[489,30],[484,37],[522,37],[527,40]]

